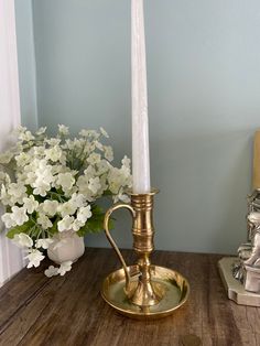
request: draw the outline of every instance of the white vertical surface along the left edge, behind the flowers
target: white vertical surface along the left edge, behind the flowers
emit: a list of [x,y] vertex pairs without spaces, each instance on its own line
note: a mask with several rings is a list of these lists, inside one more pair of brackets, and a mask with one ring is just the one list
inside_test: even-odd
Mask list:
[[[14,0],[0,0],[0,151],[20,123]],[[1,214],[2,210],[0,210]],[[0,229],[2,229],[0,223]],[[23,267],[20,249],[0,234],[0,286]]]

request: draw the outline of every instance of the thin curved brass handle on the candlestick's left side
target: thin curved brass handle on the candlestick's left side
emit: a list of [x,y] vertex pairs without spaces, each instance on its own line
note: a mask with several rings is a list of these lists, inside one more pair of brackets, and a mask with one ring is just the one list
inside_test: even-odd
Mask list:
[[105,228],[105,233],[106,233],[106,236],[108,238],[108,241],[111,244],[111,246],[112,246],[113,250],[116,251],[120,262],[122,263],[122,268],[123,268],[123,271],[126,274],[126,292],[129,292],[130,291],[130,274],[128,271],[128,267],[126,264],[126,261],[122,257],[121,251],[119,250],[117,244],[115,242],[115,240],[113,240],[113,238],[109,231],[109,219],[110,219],[111,214],[118,209],[121,209],[121,208],[128,209],[131,213],[132,217],[134,218],[136,212],[134,212],[133,207],[130,204],[119,203],[119,204],[111,206],[107,210],[107,213],[105,215],[105,219],[104,219],[104,228]]

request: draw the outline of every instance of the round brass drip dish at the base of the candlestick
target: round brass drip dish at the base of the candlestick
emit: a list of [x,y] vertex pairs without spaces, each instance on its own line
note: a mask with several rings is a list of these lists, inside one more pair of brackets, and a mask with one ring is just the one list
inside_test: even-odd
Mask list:
[[[102,283],[104,300],[120,314],[137,320],[153,320],[171,315],[182,306],[188,296],[187,280],[178,272],[158,266],[151,266],[151,282],[156,292],[161,292],[159,303],[151,306],[137,305],[126,293],[126,274],[123,269],[110,273]],[[139,282],[139,266],[128,267],[130,274],[130,291],[137,291]]]

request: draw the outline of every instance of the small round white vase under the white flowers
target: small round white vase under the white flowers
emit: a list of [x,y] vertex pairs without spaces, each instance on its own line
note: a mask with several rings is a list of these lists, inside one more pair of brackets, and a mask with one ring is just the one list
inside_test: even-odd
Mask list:
[[65,261],[75,262],[85,251],[84,237],[79,237],[75,231],[58,233],[53,240],[47,249],[47,256],[57,264]]

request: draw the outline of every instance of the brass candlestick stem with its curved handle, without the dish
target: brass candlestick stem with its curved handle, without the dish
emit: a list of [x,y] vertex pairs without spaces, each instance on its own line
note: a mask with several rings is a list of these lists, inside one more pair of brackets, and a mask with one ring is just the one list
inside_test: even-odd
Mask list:
[[[113,247],[119,260],[122,263],[122,268],[126,274],[126,293],[128,299],[136,305],[152,306],[158,304],[162,299],[163,290],[159,285],[153,284],[151,280],[151,261],[150,253],[153,251],[153,197],[158,191],[153,191],[149,194],[132,194],[131,205],[117,204],[108,209],[105,217],[105,230],[107,238]],[[132,235],[133,235],[133,250],[139,256],[138,272],[134,273],[134,278],[138,280],[131,282],[126,261],[118,249],[115,240],[112,239],[108,225],[111,214],[119,209],[127,208],[131,212],[133,218]]]

